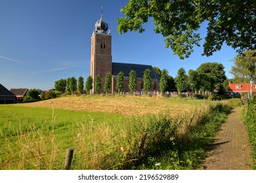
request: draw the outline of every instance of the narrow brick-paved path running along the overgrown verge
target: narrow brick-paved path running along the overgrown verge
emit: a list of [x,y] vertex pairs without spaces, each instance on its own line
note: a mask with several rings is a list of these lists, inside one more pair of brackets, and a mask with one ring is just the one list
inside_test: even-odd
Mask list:
[[249,170],[251,161],[245,126],[234,108],[222,125],[201,170]]

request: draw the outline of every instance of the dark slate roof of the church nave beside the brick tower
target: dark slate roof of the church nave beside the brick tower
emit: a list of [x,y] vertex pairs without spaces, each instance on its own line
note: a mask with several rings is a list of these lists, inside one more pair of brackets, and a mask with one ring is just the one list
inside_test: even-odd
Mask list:
[[150,69],[152,72],[152,80],[160,82],[159,76],[154,71],[151,65],[141,65],[135,63],[112,63],[112,75],[117,76],[119,72],[123,72],[125,77],[129,77],[131,70],[134,70],[137,74],[137,78],[143,78],[143,73],[146,69]]

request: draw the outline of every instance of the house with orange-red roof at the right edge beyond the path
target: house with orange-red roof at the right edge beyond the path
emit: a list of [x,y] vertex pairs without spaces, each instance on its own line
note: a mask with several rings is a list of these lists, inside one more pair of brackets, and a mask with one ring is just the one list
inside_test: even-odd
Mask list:
[[256,92],[256,85],[252,83],[229,83],[228,95],[230,97],[240,97],[242,93]]

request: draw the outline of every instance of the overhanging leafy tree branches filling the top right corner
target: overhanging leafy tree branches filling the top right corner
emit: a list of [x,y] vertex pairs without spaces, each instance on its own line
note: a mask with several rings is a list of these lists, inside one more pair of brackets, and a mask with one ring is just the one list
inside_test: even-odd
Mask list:
[[253,0],[129,0],[121,8],[124,17],[117,20],[117,30],[143,33],[142,25],[152,18],[154,31],[165,38],[165,47],[184,59],[194,46],[200,46],[198,29],[203,24],[207,30],[203,55],[221,50],[223,42],[242,53],[256,49],[255,7]]

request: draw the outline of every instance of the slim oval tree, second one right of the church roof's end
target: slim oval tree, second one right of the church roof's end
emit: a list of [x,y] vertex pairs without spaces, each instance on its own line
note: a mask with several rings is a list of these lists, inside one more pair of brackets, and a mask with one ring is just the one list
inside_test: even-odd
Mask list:
[[188,86],[188,76],[184,68],[178,70],[177,77],[175,78],[175,85],[181,97],[181,93]]

